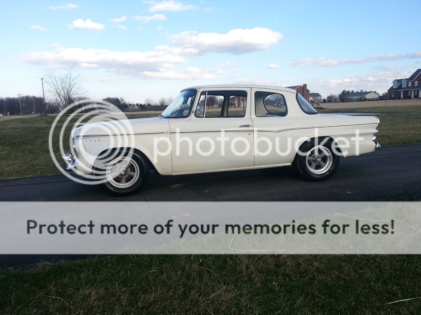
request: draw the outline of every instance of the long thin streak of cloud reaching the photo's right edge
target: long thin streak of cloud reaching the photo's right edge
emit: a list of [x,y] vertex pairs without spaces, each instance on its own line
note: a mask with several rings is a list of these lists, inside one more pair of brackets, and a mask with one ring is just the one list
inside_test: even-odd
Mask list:
[[407,53],[405,55],[394,55],[394,54],[386,54],[382,56],[370,56],[368,58],[360,58],[360,59],[328,59],[328,58],[318,58],[318,59],[310,59],[310,58],[300,58],[296,59],[290,63],[290,66],[298,66],[309,68],[310,66],[315,67],[336,67],[342,66],[347,64],[355,64],[355,63],[366,63],[372,61],[390,61],[390,60],[399,60],[399,59],[415,59],[421,58],[421,51],[416,51],[415,53]]

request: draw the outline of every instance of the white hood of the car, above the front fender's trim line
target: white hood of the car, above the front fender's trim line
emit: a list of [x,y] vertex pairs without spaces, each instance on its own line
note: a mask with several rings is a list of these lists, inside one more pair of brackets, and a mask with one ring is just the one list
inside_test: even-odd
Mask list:
[[159,117],[86,123],[72,131],[73,136],[148,134],[169,132],[168,120]]

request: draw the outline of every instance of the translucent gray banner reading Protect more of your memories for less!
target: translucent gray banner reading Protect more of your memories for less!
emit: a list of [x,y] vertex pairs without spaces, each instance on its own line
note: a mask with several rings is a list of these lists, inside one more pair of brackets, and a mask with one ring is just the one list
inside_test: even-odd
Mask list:
[[1,202],[0,254],[421,254],[421,202]]

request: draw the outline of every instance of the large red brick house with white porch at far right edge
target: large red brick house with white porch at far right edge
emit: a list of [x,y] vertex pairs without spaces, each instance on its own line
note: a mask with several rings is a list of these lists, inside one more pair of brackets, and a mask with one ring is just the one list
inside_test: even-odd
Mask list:
[[400,100],[421,97],[421,69],[415,71],[408,79],[395,79],[387,90],[388,100]]

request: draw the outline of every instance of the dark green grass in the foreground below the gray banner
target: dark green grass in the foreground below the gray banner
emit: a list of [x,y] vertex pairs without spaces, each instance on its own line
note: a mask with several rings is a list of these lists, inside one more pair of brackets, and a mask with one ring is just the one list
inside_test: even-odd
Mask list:
[[[1,314],[419,314],[421,256],[120,255],[0,271]],[[82,311],[82,312],[81,312]]]

